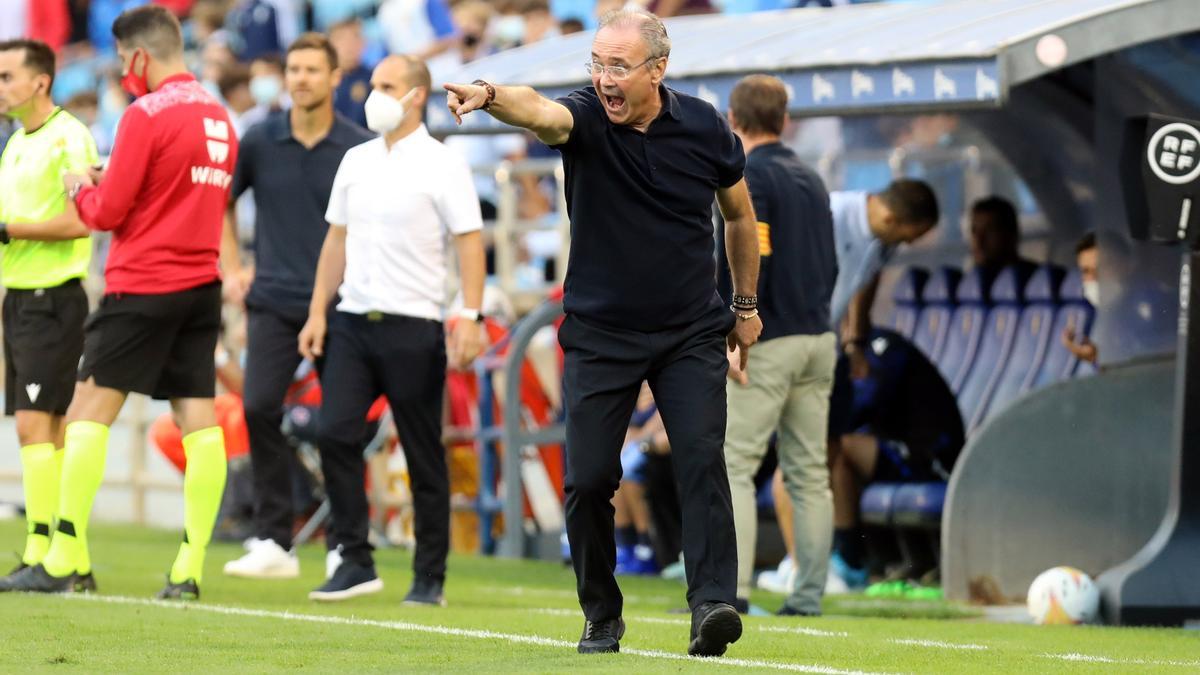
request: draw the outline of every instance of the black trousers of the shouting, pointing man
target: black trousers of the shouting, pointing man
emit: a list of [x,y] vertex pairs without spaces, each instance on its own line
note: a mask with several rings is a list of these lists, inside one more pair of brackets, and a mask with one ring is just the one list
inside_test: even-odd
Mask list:
[[580,605],[589,621],[620,616],[613,568],[612,496],[620,482],[620,447],[642,381],[671,441],[683,512],[688,604],[733,604],[737,545],[725,472],[725,338],[733,315],[714,310],[678,329],[638,333],[568,315],[559,329],[565,353],[566,536]]

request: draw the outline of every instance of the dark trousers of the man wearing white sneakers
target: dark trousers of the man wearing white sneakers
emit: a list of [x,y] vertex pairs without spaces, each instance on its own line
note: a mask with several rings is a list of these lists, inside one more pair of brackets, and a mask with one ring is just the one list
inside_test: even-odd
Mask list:
[[300,365],[306,312],[247,307],[246,377],[242,392],[250,461],[254,474],[254,533],[292,548],[295,519],[292,467],[295,450],[283,437],[283,399]]

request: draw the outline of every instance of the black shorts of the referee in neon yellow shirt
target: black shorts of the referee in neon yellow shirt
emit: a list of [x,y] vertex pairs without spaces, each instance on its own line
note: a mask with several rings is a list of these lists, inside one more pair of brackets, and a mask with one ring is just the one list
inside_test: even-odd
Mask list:
[[78,279],[4,298],[4,412],[67,412],[83,353],[88,294]]

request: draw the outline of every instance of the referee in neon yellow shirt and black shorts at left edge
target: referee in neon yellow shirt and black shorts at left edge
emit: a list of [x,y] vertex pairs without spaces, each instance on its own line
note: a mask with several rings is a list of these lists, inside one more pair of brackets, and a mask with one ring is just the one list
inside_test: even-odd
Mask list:
[[[49,548],[62,467],[64,414],[83,353],[91,241],[62,175],[98,162],[86,125],[50,100],[54,50],[34,40],[0,42],[0,112],[20,121],[0,155],[0,282],[5,414],[16,414],[28,531],[13,574]],[[25,239],[29,237],[30,239]],[[95,590],[86,544],[76,590]],[[11,577],[12,574],[10,574]],[[0,586],[7,581],[0,579]]]

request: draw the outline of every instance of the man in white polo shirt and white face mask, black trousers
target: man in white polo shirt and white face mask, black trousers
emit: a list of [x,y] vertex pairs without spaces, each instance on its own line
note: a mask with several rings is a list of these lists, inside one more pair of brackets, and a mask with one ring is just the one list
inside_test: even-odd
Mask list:
[[[361,454],[367,410],[383,394],[413,483],[415,577],[404,602],[439,605],[450,544],[442,399],[448,356],[450,366],[466,368],[480,352],[482,222],[466,160],[425,129],[425,62],[389,56],[371,86],[367,126],[382,136],[348,150],[334,179],[330,228],[300,333],[301,354],[325,357],[318,444],[342,545],[341,566],[308,597],[340,601],[383,589],[367,543]],[[442,327],[448,232],[464,298],[449,354]]]

